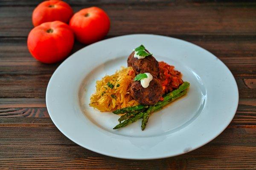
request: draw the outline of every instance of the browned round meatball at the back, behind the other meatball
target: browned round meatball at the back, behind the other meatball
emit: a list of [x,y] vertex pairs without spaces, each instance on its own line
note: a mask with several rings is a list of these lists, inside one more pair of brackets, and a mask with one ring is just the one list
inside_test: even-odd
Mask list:
[[132,66],[135,74],[149,72],[154,77],[159,75],[158,61],[149,55],[143,59],[134,58],[134,52],[129,55],[127,60],[128,66]]

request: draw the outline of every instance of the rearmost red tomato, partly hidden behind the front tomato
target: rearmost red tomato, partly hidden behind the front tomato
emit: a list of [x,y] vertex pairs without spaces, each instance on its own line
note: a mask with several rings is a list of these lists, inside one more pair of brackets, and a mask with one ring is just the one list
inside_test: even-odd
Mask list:
[[61,0],[47,0],[34,9],[32,23],[34,26],[55,20],[68,23],[72,15],[73,10],[67,3]]

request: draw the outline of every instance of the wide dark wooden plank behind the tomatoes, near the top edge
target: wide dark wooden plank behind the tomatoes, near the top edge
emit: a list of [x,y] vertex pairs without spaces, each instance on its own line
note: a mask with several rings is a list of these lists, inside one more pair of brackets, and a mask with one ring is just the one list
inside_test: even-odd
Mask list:
[[[75,12],[88,5],[73,6]],[[160,35],[255,35],[256,3],[250,6],[233,4],[204,6],[191,4],[105,5],[111,19],[108,35],[154,33]],[[142,8],[143,7],[143,8]],[[1,37],[26,37],[32,29],[31,15],[34,6],[3,6],[0,13]],[[132,12],[131,12],[132,10]],[[152,12],[154,11],[154,15]],[[18,15],[17,15],[18,14]],[[147,18],[145,20],[145,18]],[[156,22],[157,21],[157,22]],[[138,27],[138,23],[140,26]]]

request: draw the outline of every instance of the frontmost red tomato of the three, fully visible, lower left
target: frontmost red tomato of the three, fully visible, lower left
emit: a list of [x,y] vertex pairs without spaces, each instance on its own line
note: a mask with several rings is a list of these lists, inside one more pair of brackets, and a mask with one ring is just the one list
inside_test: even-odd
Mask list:
[[29,32],[27,45],[34,58],[43,63],[55,63],[70,53],[74,35],[70,27],[61,21],[42,23]]

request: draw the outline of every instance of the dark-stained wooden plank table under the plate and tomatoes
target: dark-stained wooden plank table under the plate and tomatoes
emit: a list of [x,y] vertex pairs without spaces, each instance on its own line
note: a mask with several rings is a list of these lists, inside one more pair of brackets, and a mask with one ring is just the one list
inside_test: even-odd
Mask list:
[[[124,160],[74,144],[52,123],[46,87],[60,63],[27,50],[31,14],[40,0],[0,1],[0,169],[256,169],[256,3],[166,0],[69,0],[73,10],[99,6],[111,18],[108,37],[150,33],[177,37],[215,54],[239,87],[231,124],[209,144],[181,156]],[[73,52],[84,47],[76,42]]]

